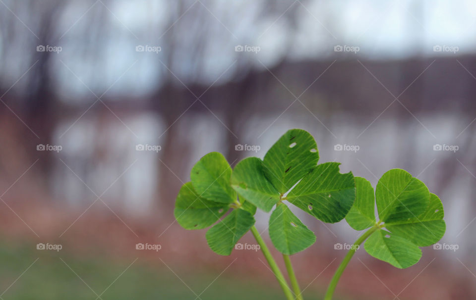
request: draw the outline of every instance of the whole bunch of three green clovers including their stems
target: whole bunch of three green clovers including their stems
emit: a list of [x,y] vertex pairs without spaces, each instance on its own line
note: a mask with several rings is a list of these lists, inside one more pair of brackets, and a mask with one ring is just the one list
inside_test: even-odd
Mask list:
[[[301,129],[286,132],[263,160],[248,157],[233,170],[222,154],[208,153],[193,166],[191,182],[181,187],[175,217],[185,229],[213,225],[206,239],[220,255],[230,255],[238,240],[251,231],[288,300],[303,299],[289,255],[316,241],[288,205],[326,223],[346,218],[353,229],[367,229],[338,267],[325,300],[332,299],[339,278],[363,242],[371,256],[407,268],[420,259],[419,247],[438,242],[445,233],[441,201],[405,170],[386,172],[374,193],[366,179],[340,173],[340,163],[318,164],[318,160],[314,138]],[[274,208],[269,237],[283,254],[292,289],[254,226],[257,208],[265,212]]]

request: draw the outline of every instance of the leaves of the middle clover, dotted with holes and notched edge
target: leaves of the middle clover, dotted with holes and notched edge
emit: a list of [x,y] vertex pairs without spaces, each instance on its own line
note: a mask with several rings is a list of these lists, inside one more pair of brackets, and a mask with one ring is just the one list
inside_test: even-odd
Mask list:
[[282,200],[329,223],[342,220],[354,202],[352,173],[339,173],[337,162],[318,165],[318,160],[314,138],[304,130],[292,129],[263,160],[245,158],[233,170],[232,187],[238,195],[266,212],[277,204],[269,219],[269,236],[283,254],[308,248],[316,237]]

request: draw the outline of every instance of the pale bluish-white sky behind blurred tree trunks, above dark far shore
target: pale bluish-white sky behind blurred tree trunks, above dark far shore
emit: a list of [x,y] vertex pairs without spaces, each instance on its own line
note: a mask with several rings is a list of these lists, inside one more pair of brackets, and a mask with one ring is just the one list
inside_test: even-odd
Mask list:
[[[264,69],[262,64],[273,67],[285,57],[399,59],[476,51],[474,0],[290,0],[264,8],[264,2],[255,0],[190,0],[180,18],[175,1],[119,0],[107,2],[107,7],[101,2],[91,7],[91,3],[71,2],[58,20],[62,51],[52,59],[66,101],[80,98],[74,95],[92,95],[85,86],[99,94],[111,88],[109,95],[147,95],[157,88],[161,76],[171,76],[170,71],[185,84],[210,85],[217,78],[217,84],[236,78],[238,70]],[[14,2],[7,4],[13,7]],[[294,28],[287,19],[293,10],[297,10]],[[101,13],[105,18],[95,23]],[[39,30],[27,15],[16,14],[33,32]],[[193,23],[197,14],[200,21]],[[169,28],[171,21],[174,25]],[[22,35],[35,39],[19,21],[16,25]],[[98,27],[104,32],[95,39]],[[164,33],[174,35],[173,48]],[[84,42],[86,36],[89,43]],[[22,55],[31,56],[35,50],[20,44],[10,53],[15,59],[6,59],[2,66],[7,82],[13,83],[30,66]],[[205,50],[197,59],[192,54],[202,44]],[[161,52],[137,52],[138,45],[161,47]],[[236,52],[237,45],[259,47],[259,52]],[[337,45],[358,47],[358,52],[335,52]],[[434,52],[436,45],[446,46],[446,51]],[[161,61],[171,51],[174,60],[169,71]],[[199,71],[197,61],[202,62]],[[20,82],[15,88],[21,91],[25,86]]]

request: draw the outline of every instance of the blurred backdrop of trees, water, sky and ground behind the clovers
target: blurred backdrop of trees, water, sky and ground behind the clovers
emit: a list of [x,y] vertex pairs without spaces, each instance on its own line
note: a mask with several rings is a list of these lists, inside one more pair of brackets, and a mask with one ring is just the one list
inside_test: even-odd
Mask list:
[[[0,299],[284,299],[260,252],[216,255],[173,209],[201,156],[263,157],[290,128],[445,206],[419,263],[357,251],[338,299],[476,299],[475,17],[471,0],[0,0]],[[296,213],[317,235],[297,277],[322,299],[359,233]]]

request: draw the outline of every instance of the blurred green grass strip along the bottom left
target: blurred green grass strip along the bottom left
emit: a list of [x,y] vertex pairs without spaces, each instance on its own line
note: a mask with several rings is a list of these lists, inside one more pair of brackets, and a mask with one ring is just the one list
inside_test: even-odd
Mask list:
[[[134,259],[118,261],[94,253],[83,257],[65,250],[40,251],[31,244],[2,245],[0,297],[3,300],[285,299],[277,284],[256,282],[256,277],[244,278],[243,274],[237,276],[231,269],[219,276],[220,272],[168,264],[172,271],[160,259],[151,266],[139,258],[126,270]],[[317,299],[311,295],[305,295],[306,300]]]

